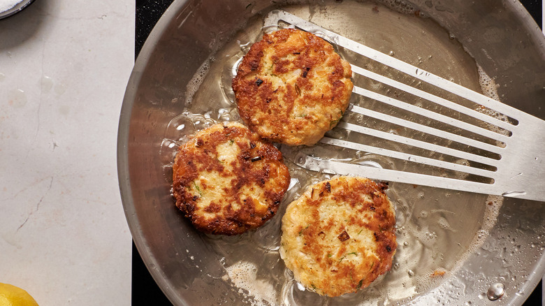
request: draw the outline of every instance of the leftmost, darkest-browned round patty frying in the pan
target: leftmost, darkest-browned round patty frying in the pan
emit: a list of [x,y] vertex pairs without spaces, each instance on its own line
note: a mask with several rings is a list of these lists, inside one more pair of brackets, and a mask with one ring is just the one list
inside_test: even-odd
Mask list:
[[277,212],[289,181],[282,153],[239,123],[199,131],[173,164],[176,206],[205,233],[261,226]]

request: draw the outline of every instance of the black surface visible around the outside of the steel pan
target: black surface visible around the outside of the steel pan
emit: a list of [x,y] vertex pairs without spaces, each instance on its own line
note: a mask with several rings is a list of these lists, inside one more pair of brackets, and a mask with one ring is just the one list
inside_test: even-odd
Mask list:
[[[136,0],[135,50],[134,57],[142,49],[163,12],[173,0]],[[542,27],[542,0],[521,0],[523,6]],[[147,271],[138,250],[133,243],[132,305],[172,305]],[[542,282],[530,295],[523,306],[542,305]]]

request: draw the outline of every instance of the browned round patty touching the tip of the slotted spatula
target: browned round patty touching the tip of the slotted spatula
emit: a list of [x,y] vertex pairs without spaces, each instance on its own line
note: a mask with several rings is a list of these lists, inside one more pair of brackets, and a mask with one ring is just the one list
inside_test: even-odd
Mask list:
[[347,109],[350,64],[305,31],[265,34],[242,59],[233,91],[242,120],[267,140],[314,145]]

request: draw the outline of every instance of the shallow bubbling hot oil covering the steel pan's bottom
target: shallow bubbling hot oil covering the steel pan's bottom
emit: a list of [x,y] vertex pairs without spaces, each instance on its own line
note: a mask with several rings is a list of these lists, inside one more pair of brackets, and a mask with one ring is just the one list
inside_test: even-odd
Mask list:
[[[463,46],[432,20],[419,17],[412,7],[400,3],[402,1],[386,4],[397,6],[402,13],[376,3],[349,1],[283,9],[437,75],[449,75],[466,87],[478,89],[477,65]],[[201,66],[189,83],[187,109],[172,119],[161,147],[168,180],[175,150],[191,133],[215,122],[240,121],[231,79],[240,58],[261,38],[262,25],[262,16],[256,15]],[[349,61],[358,60],[353,58],[354,54],[339,52]],[[489,93],[490,88],[483,92]],[[387,93],[388,89],[384,88],[384,91]],[[354,98],[351,103],[370,102]],[[329,158],[350,159],[384,168],[404,167],[392,159],[363,152],[332,152],[319,146],[313,150]],[[226,268],[223,279],[232,282],[235,290],[242,289],[249,304],[375,305],[377,300],[384,303],[410,300],[446,281],[451,272],[481,245],[495,224],[502,203],[502,198],[498,197],[391,183],[387,192],[396,207],[398,227],[398,251],[393,269],[368,289],[329,299],[304,291],[293,282],[278,249],[281,217],[286,205],[303,194],[309,184],[330,175],[299,168],[289,160],[285,162],[292,179],[277,216],[256,231],[243,235],[204,235],[212,252],[223,258],[222,264]]]

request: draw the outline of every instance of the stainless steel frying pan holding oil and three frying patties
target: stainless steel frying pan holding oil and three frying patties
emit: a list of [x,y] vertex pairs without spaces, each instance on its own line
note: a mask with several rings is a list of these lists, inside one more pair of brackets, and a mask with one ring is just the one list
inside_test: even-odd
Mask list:
[[[393,270],[371,288],[330,299],[300,290],[277,252],[279,215],[323,174],[286,161],[294,180],[279,215],[234,238],[194,231],[170,195],[177,145],[206,124],[238,120],[229,89],[233,67],[274,8],[468,87],[478,86],[479,66],[504,103],[544,118],[545,41],[535,22],[516,1],[474,2],[174,1],[136,61],[118,139],[129,227],[173,304],[523,303],[544,272],[543,203],[391,184],[399,244]],[[502,294],[492,302],[489,289]]]

